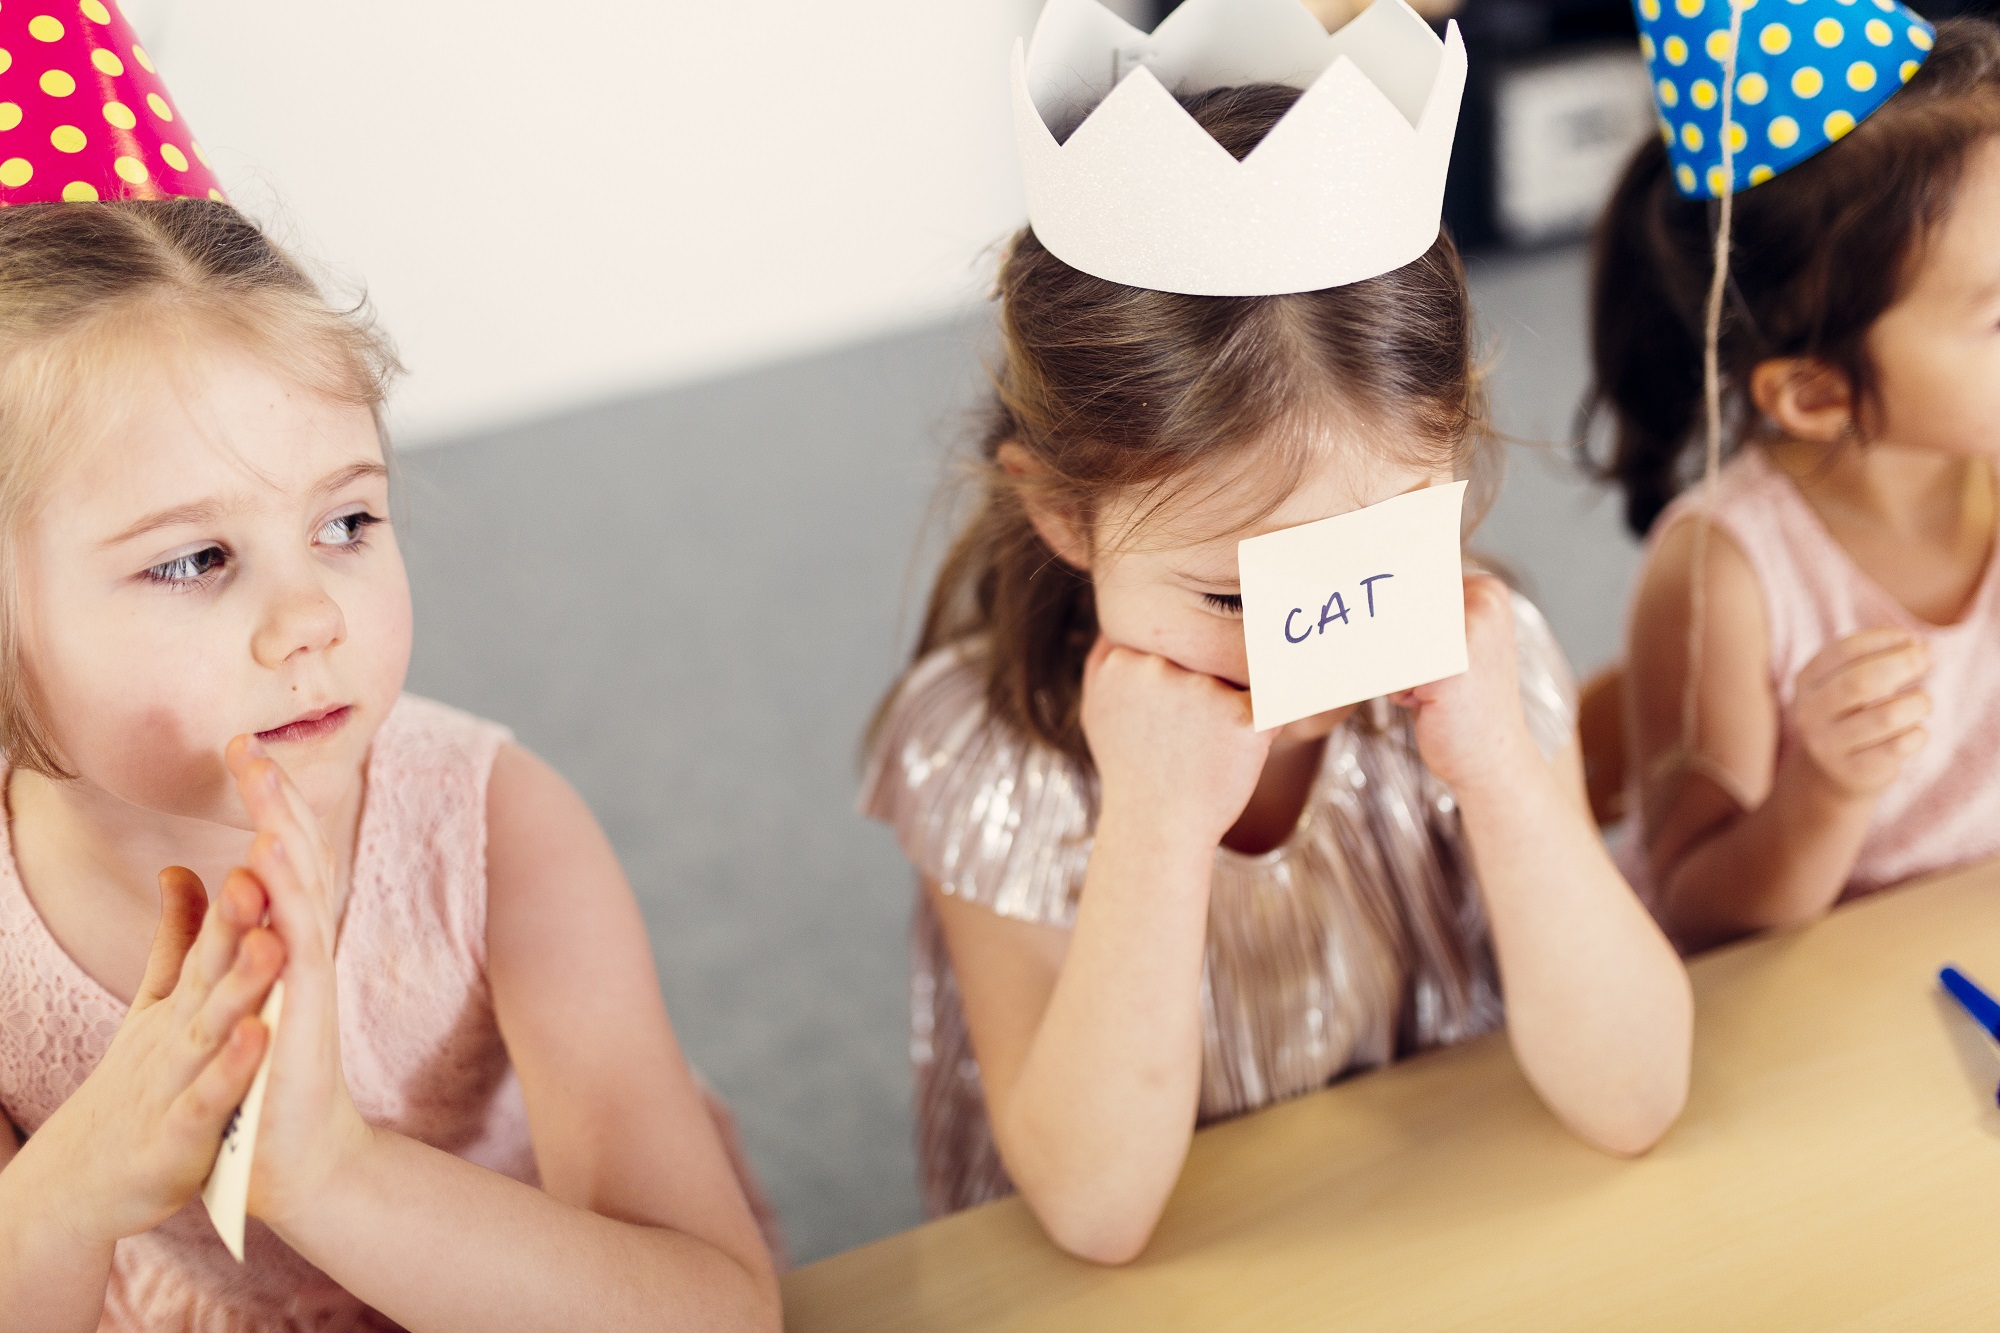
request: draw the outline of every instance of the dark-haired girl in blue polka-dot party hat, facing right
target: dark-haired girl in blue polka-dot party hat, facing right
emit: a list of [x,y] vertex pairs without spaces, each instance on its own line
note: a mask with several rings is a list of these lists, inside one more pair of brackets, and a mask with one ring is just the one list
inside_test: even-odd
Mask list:
[[1702,947],[2000,853],[2000,30],[1638,10],[1592,406],[1650,538],[1628,873]]

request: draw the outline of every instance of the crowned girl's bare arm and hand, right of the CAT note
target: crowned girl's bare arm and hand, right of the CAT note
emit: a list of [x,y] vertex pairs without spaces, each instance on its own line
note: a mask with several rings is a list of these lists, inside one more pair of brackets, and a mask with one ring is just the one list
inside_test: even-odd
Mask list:
[[1466,580],[1466,675],[1400,703],[1416,707],[1424,763],[1458,801],[1508,1039],[1572,1131],[1612,1153],[1642,1153],[1688,1095],[1688,975],[1604,853],[1574,735],[1548,761],[1528,733],[1498,580]]

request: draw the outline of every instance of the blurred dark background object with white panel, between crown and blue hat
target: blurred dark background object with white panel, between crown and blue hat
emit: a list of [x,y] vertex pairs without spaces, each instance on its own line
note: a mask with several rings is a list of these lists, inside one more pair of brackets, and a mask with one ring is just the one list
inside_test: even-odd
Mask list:
[[[1176,4],[1162,0],[1156,22]],[[2000,0],[1914,8],[1930,20],[1994,16]],[[1464,250],[1588,234],[1632,148],[1658,124],[1630,0],[1466,0],[1456,18],[1466,100],[1444,226]]]

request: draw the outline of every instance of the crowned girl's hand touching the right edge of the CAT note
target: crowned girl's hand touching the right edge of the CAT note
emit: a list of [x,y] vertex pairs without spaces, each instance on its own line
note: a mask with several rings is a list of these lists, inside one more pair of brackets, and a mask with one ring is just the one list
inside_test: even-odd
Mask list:
[[1514,600],[1488,574],[1466,576],[1466,671],[1392,695],[1416,711],[1416,749],[1424,767],[1452,791],[1516,783],[1540,751],[1520,709],[1520,660],[1514,654]]

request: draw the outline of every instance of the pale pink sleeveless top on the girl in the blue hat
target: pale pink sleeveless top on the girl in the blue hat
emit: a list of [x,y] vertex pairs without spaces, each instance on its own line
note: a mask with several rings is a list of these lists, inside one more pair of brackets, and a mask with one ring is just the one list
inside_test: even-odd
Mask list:
[[[1654,540],[1698,512],[1696,488],[1662,514]],[[1792,685],[1820,648],[1876,626],[1930,642],[1930,741],[1876,799],[1842,899],[2000,855],[2000,560],[1988,556],[1956,624],[1920,620],[1854,564],[1792,478],[1756,446],[1722,468],[1716,526],[1742,548],[1764,592],[1770,681],[1784,717],[1780,755],[1798,745]]]

